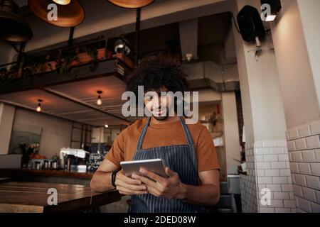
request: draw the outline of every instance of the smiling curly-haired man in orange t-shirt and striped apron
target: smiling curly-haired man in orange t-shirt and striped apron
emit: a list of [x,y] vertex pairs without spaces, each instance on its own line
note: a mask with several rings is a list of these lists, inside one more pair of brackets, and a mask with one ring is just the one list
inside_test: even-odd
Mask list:
[[[185,92],[188,89],[180,65],[156,57],[142,60],[127,81],[127,90],[137,94]],[[171,105],[174,104],[174,105]],[[129,212],[197,212],[201,205],[219,200],[219,165],[213,140],[201,123],[186,125],[185,118],[170,112],[172,96],[144,96],[151,117],[134,122],[114,140],[91,180],[91,187],[104,192],[112,185],[120,194],[131,195]],[[161,158],[168,178],[140,170],[126,177],[119,163]]]

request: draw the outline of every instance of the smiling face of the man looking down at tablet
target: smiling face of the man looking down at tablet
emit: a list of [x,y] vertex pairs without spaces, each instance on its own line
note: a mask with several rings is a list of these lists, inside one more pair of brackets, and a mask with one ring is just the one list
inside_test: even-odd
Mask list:
[[[151,112],[152,116],[158,121],[164,121],[169,117],[173,110],[172,96],[169,94],[161,95],[161,92],[168,92],[166,87],[161,87],[159,91],[150,91],[144,94],[144,104],[146,109]],[[171,107],[171,108],[170,108]]]

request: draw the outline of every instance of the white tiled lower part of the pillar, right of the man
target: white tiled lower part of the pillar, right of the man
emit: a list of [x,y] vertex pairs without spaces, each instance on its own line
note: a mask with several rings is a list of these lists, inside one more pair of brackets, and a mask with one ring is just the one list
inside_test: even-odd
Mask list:
[[[286,140],[246,144],[247,176],[241,176],[242,211],[292,213],[296,211]],[[270,189],[270,205],[262,205],[261,190]]]

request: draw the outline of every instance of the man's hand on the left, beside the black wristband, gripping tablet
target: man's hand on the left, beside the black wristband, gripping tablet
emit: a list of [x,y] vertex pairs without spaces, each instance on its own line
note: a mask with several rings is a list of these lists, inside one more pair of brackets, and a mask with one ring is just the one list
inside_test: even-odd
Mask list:
[[146,185],[142,184],[142,181],[127,177],[122,171],[117,173],[114,184],[120,194],[134,195],[148,193],[146,191]]

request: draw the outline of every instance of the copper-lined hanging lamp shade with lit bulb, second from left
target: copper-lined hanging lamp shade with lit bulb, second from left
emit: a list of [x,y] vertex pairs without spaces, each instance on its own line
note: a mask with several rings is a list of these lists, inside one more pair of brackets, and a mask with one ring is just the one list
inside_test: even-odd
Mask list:
[[[69,2],[69,3],[68,3]],[[48,20],[49,4],[57,6],[57,21]],[[54,26],[75,27],[85,19],[85,10],[78,0],[53,1],[53,0],[28,0],[28,6],[36,16]]]

